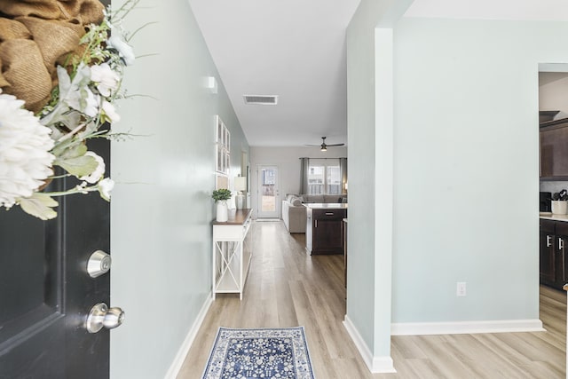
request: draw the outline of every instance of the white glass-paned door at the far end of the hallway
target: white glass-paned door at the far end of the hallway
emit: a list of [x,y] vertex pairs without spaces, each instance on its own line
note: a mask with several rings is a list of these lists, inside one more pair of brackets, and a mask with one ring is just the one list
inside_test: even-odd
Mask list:
[[257,172],[258,218],[280,218],[280,169],[259,165]]

